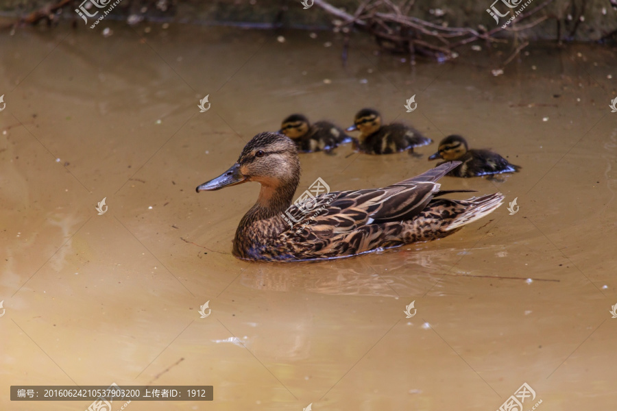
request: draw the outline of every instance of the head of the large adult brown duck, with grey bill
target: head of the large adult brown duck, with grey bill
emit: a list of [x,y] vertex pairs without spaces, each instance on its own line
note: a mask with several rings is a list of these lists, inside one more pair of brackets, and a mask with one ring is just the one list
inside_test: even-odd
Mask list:
[[[214,191],[246,182],[259,182],[261,197],[267,200],[276,190],[291,190],[300,181],[300,160],[295,144],[278,133],[260,133],[244,146],[236,164],[215,179],[197,187],[197,192]],[[286,193],[288,194],[288,193]],[[287,195],[285,196],[287,197]]]

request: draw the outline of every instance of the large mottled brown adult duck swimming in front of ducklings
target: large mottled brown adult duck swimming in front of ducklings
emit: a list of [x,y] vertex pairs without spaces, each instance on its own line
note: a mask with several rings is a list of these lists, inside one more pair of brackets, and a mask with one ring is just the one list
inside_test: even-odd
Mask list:
[[261,184],[257,202],[236,231],[237,258],[339,258],[441,238],[498,208],[504,198],[499,192],[468,200],[435,198],[450,192],[440,191],[437,179],[459,164],[443,164],[385,188],[308,195],[310,201],[292,204],[300,182],[295,144],[281,134],[261,133],[247,143],[228,171],[196,190]]

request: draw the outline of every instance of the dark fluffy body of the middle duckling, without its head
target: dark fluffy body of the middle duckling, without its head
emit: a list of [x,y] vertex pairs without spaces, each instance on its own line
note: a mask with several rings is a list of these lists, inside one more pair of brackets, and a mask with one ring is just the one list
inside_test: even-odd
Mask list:
[[392,123],[383,125],[361,144],[361,151],[369,154],[391,154],[431,144],[433,140],[424,137],[408,125]]

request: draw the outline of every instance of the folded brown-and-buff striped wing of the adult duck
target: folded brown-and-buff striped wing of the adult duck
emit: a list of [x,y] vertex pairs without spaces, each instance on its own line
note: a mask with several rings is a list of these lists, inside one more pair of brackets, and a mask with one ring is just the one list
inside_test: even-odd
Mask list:
[[319,237],[344,234],[362,225],[406,221],[418,215],[428,201],[439,193],[436,181],[459,162],[448,162],[426,173],[385,188],[331,192],[323,207],[316,207],[311,219],[311,231]]

